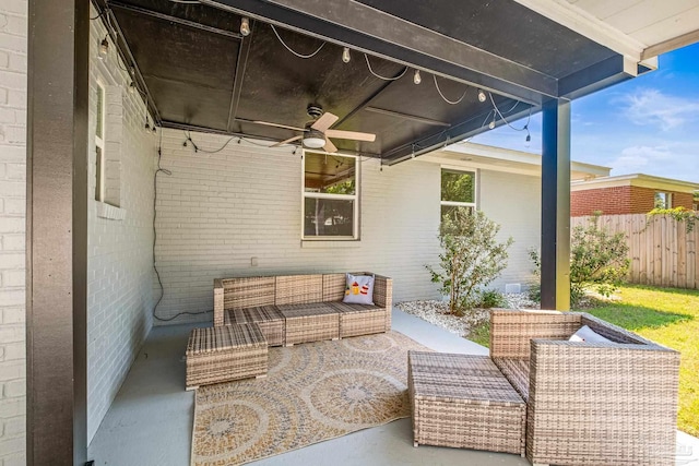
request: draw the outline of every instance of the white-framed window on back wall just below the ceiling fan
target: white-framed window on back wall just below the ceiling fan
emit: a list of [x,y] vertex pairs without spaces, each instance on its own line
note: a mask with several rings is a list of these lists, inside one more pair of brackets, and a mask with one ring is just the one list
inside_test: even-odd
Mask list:
[[357,158],[304,152],[304,239],[356,239]]

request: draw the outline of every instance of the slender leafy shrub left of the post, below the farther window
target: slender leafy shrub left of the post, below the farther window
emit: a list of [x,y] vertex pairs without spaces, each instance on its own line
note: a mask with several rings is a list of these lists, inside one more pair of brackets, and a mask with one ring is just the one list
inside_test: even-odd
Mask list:
[[478,301],[478,287],[500,275],[507,266],[510,237],[498,242],[500,226],[483,212],[457,208],[445,215],[439,228],[439,270],[427,265],[440,291],[449,295],[449,311],[461,315]]

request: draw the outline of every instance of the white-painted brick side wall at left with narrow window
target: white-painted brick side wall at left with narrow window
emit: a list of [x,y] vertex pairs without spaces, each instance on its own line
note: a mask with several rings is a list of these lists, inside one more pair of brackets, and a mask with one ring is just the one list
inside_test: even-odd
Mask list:
[[[93,10],[92,15],[96,12]],[[127,89],[114,44],[105,60],[91,28],[87,260],[87,439],[92,440],[152,326],[153,176],[157,136],[146,132],[143,100]],[[121,63],[123,67],[123,63]],[[105,148],[120,178],[119,208],[94,201],[97,80],[106,87]]]

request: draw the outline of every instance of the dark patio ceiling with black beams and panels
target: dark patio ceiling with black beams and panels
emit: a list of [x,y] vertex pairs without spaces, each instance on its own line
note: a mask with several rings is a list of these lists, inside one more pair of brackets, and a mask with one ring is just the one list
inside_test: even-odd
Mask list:
[[[493,104],[481,103],[477,88],[490,91],[514,120],[546,99],[574,98],[648,70],[512,0],[97,3],[111,11],[120,48],[134,60],[162,126],[282,141],[299,132],[253,121],[303,128],[307,106],[319,104],[340,117],[334,129],[377,134],[376,142],[334,139],[341,151],[387,164],[486,131]],[[251,19],[247,37],[242,16]],[[324,46],[301,59],[282,40],[299,53]],[[391,81],[369,71],[365,52],[374,72]],[[452,105],[439,91],[449,100],[464,97]]]

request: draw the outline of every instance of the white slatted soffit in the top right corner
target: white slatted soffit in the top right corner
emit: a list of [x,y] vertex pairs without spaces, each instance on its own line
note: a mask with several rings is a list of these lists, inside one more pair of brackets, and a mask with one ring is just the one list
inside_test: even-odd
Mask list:
[[635,62],[699,41],[699,0],[514,0]]

